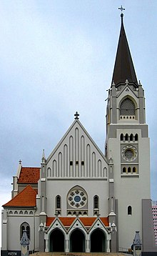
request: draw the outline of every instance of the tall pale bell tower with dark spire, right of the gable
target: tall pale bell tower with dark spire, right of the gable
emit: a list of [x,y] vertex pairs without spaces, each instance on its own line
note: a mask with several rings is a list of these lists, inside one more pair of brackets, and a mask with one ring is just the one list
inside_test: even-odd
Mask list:
[[113,159],[119,248],[130,248],[137,230],[144,240],[143,220],[151,214],[151,209],[147,214],[143,212],[143,200],[150,202],[151,198],[149,144],[144,90],[141,82],[137,82],[121,13],[106,107],[106,157]]

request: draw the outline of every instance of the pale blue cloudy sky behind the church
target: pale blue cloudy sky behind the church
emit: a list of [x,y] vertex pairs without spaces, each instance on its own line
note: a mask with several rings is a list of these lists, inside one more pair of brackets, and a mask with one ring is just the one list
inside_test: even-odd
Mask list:
[[19,159],[40,167],[74,113],[104,152],[121,11],[151,138],[151,197],[157,200],[157,1],[0,0],[0,204],[11,198]]

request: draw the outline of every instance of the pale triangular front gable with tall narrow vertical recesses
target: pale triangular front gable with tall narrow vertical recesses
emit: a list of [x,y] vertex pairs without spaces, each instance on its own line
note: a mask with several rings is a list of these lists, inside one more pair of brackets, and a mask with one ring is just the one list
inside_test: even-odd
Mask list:
[[78,120],[74,121],[46,160],[47,177],[106,178],[108,164]]

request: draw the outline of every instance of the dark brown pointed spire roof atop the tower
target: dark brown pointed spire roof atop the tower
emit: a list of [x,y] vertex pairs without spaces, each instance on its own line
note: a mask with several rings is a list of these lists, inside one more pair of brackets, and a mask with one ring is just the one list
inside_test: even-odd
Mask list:
[[112,83],[114,82],[117,85],[119,83],[126,82],[126,79],[128,79],[128,82],[133,82],[136,87],[138,87],[136,72],[133,67],[131,52],[128,47],[126,32],[123,26],[123,14],[121,14],[121,31],[118,41]]

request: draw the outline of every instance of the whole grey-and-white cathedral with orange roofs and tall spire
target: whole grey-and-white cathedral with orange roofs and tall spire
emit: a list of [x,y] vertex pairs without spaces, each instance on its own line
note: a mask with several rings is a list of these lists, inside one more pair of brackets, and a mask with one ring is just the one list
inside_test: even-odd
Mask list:
[[[121,14],[106,106],[105,152],[79,120],[41,167],[19,162],[11,200],[3,205],[1,256],[29,252],[119,252],[139,232],[143,255],[155,255],[150,142],[145,96],[137,81]],[[150,254],[151,252],[151,254]]]

